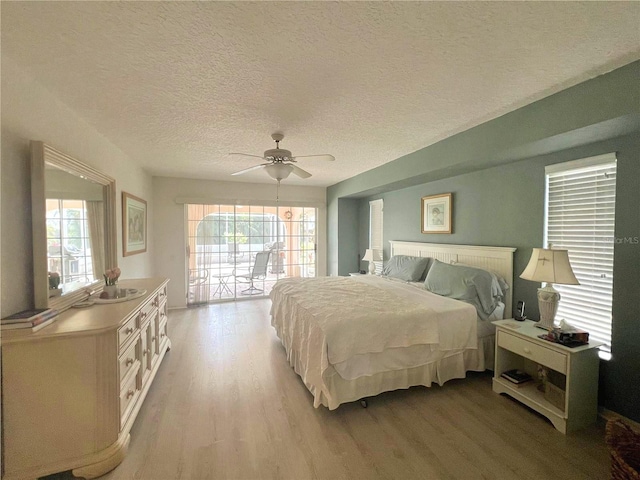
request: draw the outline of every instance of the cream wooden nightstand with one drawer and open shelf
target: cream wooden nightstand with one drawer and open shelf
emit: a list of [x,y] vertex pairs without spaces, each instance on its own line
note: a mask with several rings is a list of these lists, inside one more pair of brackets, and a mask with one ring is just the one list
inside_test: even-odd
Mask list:
[[[586,427],[598,414],[598,348],[602,343],[569,348],[538,338],[544,330],[535,322],[498,320],[493,391],[506,393],[544,415],[562,433]],[[538,366],[552,371],[564,389],[550,385],[547,395],[540,388]],[[523,370],[533,381],[516,386],[500,375],[512,369]]]

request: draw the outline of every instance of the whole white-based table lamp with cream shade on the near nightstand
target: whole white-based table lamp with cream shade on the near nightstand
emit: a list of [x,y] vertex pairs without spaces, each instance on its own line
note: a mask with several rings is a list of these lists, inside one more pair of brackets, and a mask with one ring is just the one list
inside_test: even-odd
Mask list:
[[527,267],[520,278],[534,282],[547,282],[538,289],[538,306],[540,308],[540,323],[543,328],[553,328],[553,322],[560,303],[560,292],[553,288],[552,283],[564,285],[580,285],[569,263],[567,250],[549,248],[534,248]]

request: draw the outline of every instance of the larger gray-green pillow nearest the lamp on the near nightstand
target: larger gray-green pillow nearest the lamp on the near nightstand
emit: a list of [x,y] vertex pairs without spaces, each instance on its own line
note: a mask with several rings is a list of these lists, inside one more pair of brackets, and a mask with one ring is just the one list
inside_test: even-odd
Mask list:
[[430,292],[472,304],[483,319],[495,310],[503,295],[495,274],[438,260],[433,261],[424,284]]

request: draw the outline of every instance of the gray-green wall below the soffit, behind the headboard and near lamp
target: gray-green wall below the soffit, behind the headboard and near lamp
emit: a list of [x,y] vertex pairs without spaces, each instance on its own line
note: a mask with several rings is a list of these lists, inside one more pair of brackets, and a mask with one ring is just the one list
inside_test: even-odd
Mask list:
[[[613,358],[601,362],[600,404],[640,421],[640,135],[535,157],[503,167],[387,192],[360,201],[360,250],[368,245],[369,200],[384,199],[384,239],[516,247],[514,299],[538,317],[537,284],[518,277],[543,245],[544,167],[617,152]],[[420,233],[420,198],[453,193],[453,234]],[[388,246],[385,258],[389,258]]]

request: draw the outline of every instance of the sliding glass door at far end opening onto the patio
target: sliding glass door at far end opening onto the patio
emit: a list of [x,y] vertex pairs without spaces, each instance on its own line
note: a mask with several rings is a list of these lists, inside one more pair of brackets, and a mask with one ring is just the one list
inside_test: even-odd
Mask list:
[[269,295],[283,277],[315,277],[309,207],[187,205],[187,304]]

